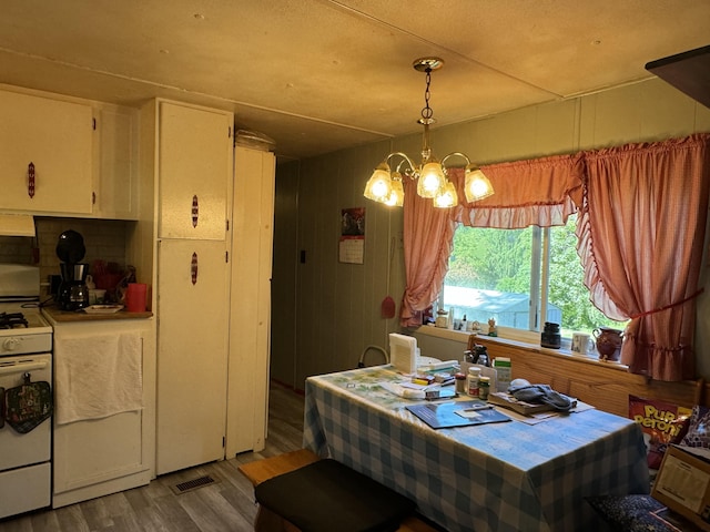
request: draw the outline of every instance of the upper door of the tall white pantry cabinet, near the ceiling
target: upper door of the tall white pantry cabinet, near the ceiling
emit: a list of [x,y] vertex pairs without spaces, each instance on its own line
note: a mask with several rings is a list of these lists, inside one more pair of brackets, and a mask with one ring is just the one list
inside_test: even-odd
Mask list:
[[160,238],[225,238],[232,121],[232,113],[161,102]]

